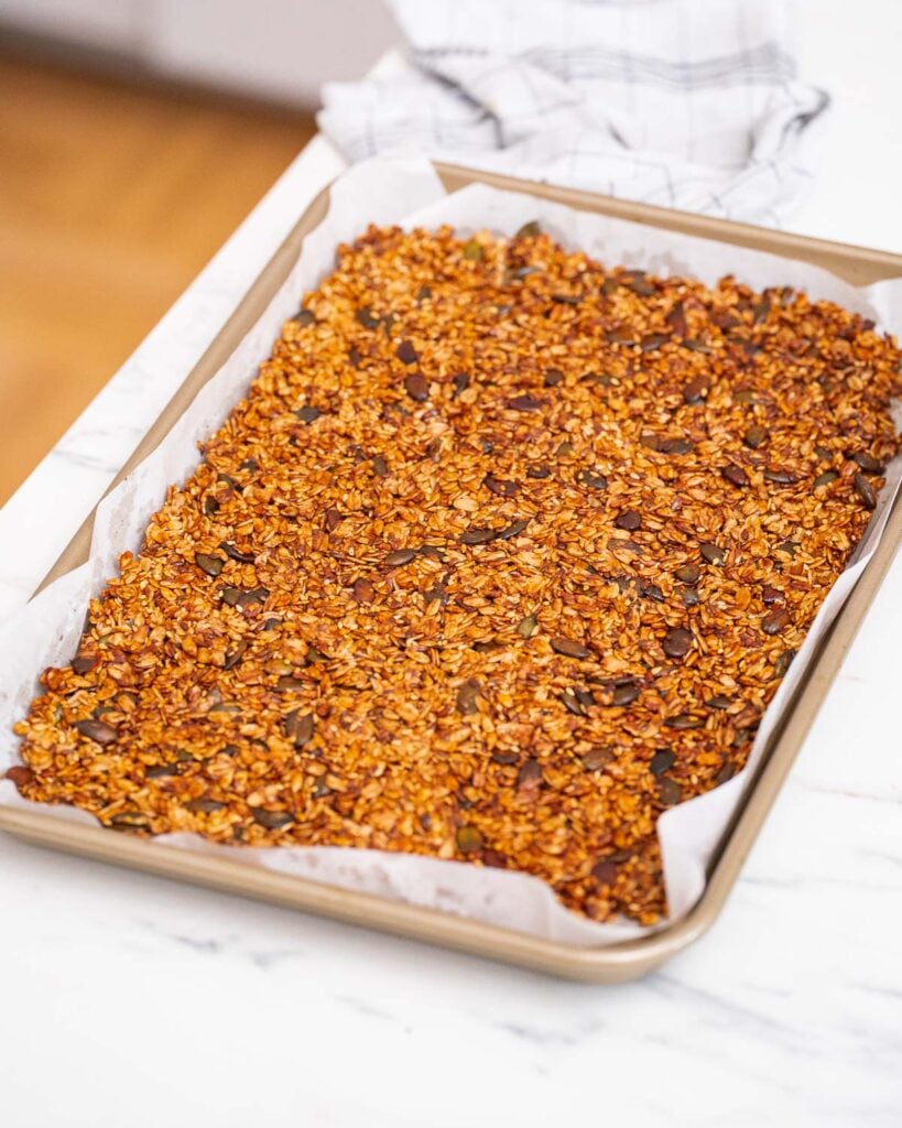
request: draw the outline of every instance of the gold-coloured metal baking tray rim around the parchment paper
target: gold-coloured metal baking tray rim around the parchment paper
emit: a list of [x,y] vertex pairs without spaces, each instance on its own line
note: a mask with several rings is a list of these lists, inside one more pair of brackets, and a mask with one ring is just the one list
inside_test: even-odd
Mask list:
[[[808,239],[744,223],[630,203],[572,188],[549,187],[545,184],[478,173],[457,166],[435,167],[449,191],[474,182],[483,182],[510,192],[543,196],[584,211],[701,236],[733,246],[751,247],[785,258],[802,259],[823,266],[856,285],[902,276],[902,256],[885,252]],[[198,390],[219,370],[260,316],[297,261],[304,236],[325,217],[328,191],[324,190],[298,220],[285,241],[254,281],[238,308],[123,466],[110,490],[157,448]],[[779,279],[775,280],[775,283],[777,282]],[[42,588],[88,558],[92,525],[94,513],[88,517],[56,561]],[[723,909],[745,856],[900,543],[902,543],[902,501],[895,504],[872,561],[832,628],[821,642],[814,661],[785,711],[781,724],[772,733],[754,777],[750,781],[745,795],[711,860],[705,892],[695,908],[681,920],[639,940],[603,948],[574,948],[480,920],[454,916],[439,909],[419,908],[372,893],[353,892],[309,879],[246,865],[226,857],[195,854],[174,846],[160,845],[152,839],[130,838],[99,825],[85,826],[55,819],[37,809],[32,811],[18,807],[0,807],[0,829],[42,846],[213,889],[242,893],[276,905],[443,944],[459,951],[519,963],[571,979],[596,982],[635,979],[663,963],[700,936]]]

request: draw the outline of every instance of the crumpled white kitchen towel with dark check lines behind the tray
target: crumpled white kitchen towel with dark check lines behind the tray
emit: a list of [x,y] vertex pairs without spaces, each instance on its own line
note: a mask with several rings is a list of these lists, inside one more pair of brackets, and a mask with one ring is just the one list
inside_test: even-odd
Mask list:
[[829,97],[796,81],[788,0],[388,0],[395,73],[327,82],[352,161],[472,167],[780,226]]

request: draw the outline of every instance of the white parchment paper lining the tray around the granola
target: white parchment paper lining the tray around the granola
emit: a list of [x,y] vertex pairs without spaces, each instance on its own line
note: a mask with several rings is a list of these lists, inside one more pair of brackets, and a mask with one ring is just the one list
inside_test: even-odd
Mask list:
[[[122,550],[138,550],[150,515],[163,500],[166,486],[184,481],[194,468],[196,442],[220,425],[244,394],[250,374],[268,356],[283,321],[298,308],[303,291],[313,289],[333,268],[335,245],[354,238],[370,221],[430,227],[450,222],[463,233],[488,228],[511,235],[531,219],[539,219],[546,230],[565,244],[578,246],[608,264],[692,274],[709,283],[729,271],[757,288],[784,284],[805,288],[812,297],[829,298],[856,309],[896,333],[902,325],[900,281],[856,290],[803,263],[578,212],[484,185],[472,185],[449,196],[425,161],[375,160],[357,166],[334,186],[328,217],[304,240],[298,265],[227,364],[158,450],[101,503],[89,562],[42,592],[0,634],[0,772],[17,761],[17,740],[10,725],[27,710],[36,691],[37,673],[46,666],[71,660],[89,596],[116,572]],[[897,487],[899,469],[893,470]],[[802,677],[816,640],[860,575],[888,514],[892,492],[890,487],[884,491],[854,566],[831,591],[771,703],[750,766],[760,758],[768,734],[779,720],[781,703]],[[670,810],[658,821],[671,920],[683,916],[702,892],[707,863],[748,778],[749,768],[716,791]],[[0,802],[36,809],[36,804],[21,800],[8,781],[0,782]],[[42,805],[39,810],[56,818],[95,822],[86,812],[70,808]],[[460,913],[572,944],[600,945],[648,932],[630,923],[599,925],[578,917],[563,908],[537,879],[458,862],[334,847],[253,851],[215,846],[191,835],[163,836],[154,841],[226,853],[247,864]]]

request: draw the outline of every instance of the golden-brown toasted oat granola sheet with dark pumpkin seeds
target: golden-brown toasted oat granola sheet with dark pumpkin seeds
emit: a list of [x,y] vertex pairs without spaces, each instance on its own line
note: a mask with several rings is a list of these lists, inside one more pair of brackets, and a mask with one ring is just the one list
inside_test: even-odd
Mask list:
[[404,851],[665,911],[896,451],[900,354],[732,277],[370,228],[90,606],[28,799]]

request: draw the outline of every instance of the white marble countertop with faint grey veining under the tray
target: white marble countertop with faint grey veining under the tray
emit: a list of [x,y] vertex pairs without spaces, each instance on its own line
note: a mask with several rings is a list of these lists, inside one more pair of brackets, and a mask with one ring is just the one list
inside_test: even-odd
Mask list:
[[[868,7],[881,9],[879,36],[860,34]],[[801,10],[806,76],[837,106],[794,228],[902,250],[902,10]],[[339,169],[315,140],[0,512],[0,615],[27,598]],[[624,987],[558,982],[0,837],[0,1122],[902,1123],[900,637],[902,559],[719,923]]]

